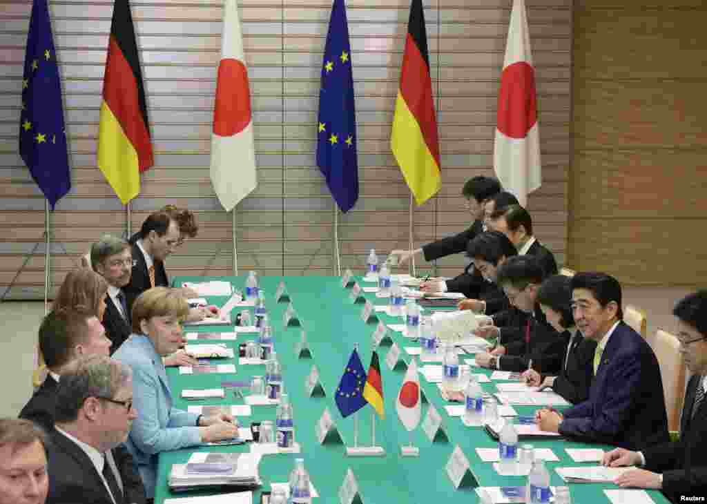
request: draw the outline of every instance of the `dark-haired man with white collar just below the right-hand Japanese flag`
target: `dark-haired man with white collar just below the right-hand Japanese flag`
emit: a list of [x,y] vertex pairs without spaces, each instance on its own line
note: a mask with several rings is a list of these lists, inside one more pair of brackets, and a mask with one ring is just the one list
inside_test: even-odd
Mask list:
[[518,255],[537,257],[545,276],[557,274],[555,257],[532,234],[530,213],[520,205],[506,206],[491,213],[489,229],[501,231],[518,249]]

